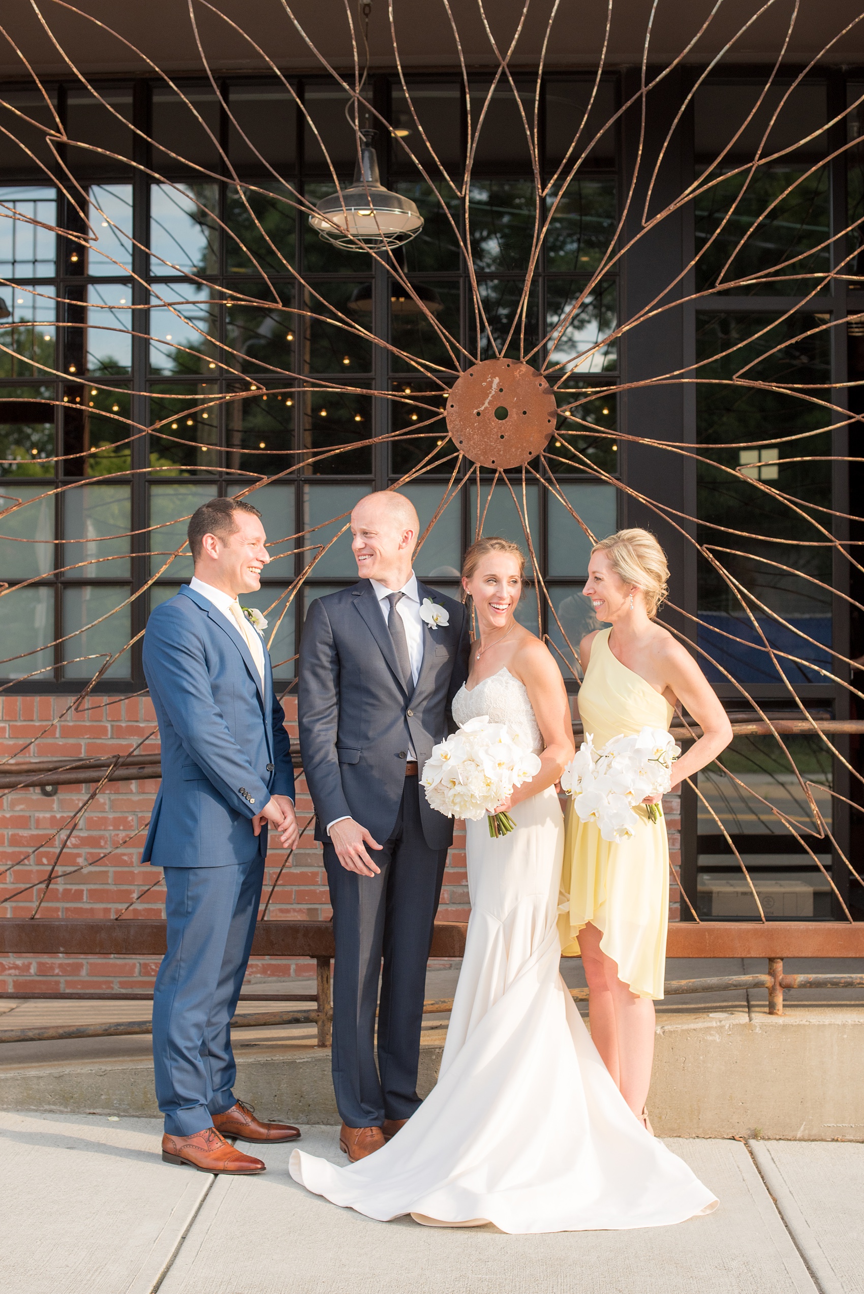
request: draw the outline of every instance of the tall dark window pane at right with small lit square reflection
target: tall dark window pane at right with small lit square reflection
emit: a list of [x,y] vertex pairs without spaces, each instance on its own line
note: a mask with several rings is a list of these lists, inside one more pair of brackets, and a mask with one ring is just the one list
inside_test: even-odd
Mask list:
[[[819,329],[819,320],[802,314],[758,336],[771,321],[772,316],[761,313],[697,316],[697,358],[717,357],[700,371],[704,378],[722,379],[697,388],[698,540],[714,546],[715,560],[740,587],[781,617],[784,622],[750,603],[768,642],[825,669],[830,668],[825,650],[832,641],[830,587],[806,577],[830,586],[830,546],[806,515],[761,489],[758,481],[773,483],[784,494],[829,509],[830,462],[824,455],[830,454],[830,440],[821,431],[829,415],[815,401],[783,391],[745,388],[733,384],[732,378],[748,366],[748,375],[757,382],[801,386],[805,395],[810,388],[824,399],[824,387],[830,382],[830,342],[825,331],[806,336],[808,330]],[[776,353],[754,364],[775,348]],[[812,435],[784,443],[784,437],[802,432]],[[777,436],[776,445],[766,445],[770,435]],[[740,446],[741,441],[753,441],[755,448],[723,448],[724,443]],[[700,644],[741,682],[777,682],[739,593],[715,567],[700,560],[698,613],[706,622],[700,629]],[[713,682],[724,681],[710,661],[702,661],[702,668]],[[784,661],[784,670],[793,683],[819,681],[806,665]]]

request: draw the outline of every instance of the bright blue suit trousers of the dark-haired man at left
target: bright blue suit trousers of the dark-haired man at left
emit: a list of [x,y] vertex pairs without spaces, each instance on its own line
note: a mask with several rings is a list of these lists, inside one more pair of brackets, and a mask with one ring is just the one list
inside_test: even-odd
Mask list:
[[153,1064],[166,1132],[190,1136],[234,1104],[230,1018],[252,949],[264,859],[166,867],[168,951],[153,995]]

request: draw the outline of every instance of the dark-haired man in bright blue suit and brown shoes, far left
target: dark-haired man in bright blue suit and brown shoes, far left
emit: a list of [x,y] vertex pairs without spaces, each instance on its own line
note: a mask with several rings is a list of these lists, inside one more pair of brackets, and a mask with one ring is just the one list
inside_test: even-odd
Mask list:
[[215,498],[189,523],[195,575],[153,611],[144,672],[159,722],[162,787],[141,861],[164,870],[168,951],[153,1000],[162,1158],[203,1172],[263,1172],[225,1137],[292,1141],[232,1091],[230,1018],[252,947],[268,824],[285,849],[291,743],[263,637],[239,604],[270,560],[261,514]]

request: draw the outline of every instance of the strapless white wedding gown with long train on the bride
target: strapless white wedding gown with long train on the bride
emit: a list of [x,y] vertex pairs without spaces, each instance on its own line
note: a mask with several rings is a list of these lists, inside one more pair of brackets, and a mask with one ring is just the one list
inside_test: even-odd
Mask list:
[[[528,692],[502,669],[453,703],[519,729],[542,751]],[[511,810],[494,840],[467,823],[471,920],[437,1086],[380,1150],[347,1167],[295,1150],[291,1176],[387,1222],[491,1222],[511,1233],[626,1229],[717,1207],[634,1118],[560,973],[564,848],[555,789]]]

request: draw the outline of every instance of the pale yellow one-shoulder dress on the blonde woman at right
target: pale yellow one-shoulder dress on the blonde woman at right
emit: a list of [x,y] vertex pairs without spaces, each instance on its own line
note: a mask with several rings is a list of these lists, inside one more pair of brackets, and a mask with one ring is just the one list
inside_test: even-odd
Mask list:
[[[644,678],[612,655],[609,629],[591,643],[579,688],[579,717],[595,747],[645,725],[669,729],[673,707]],[[666,822],[636,809],[639,826],[620,845],[603,840],[592,822],[579,822],[568,805],[559,934],[564,956],[578,956],[578,932],[589,921],[603,932],[600,949],[618,978],[640,998],[662,998],[669,921]]]

